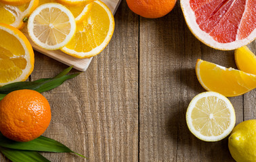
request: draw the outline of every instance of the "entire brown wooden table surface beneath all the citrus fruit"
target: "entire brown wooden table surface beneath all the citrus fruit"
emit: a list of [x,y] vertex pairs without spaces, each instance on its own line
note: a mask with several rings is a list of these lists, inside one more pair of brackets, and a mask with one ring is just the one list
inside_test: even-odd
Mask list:
[[[236,68],[234,51],[200,43],[177,5],[159,19],[133,14],[125,1],[114,16],[112,41],[86,72],[44,92],[52,111],[43,134],[85,155],[43,153],[51,161],[234,161],[228,138],[202,142],[186,125],[191,99],[205,90],[195,73],[201,58]],[[256,53],[256,43],[249,48]],[[30,80],[55,76],[66,65],[35,53]],[[72,70],[72,73],[78,72]],[[230,101],[236,124],[256,118],[256,91]],[[1,155],[0,161],[7,161]]]

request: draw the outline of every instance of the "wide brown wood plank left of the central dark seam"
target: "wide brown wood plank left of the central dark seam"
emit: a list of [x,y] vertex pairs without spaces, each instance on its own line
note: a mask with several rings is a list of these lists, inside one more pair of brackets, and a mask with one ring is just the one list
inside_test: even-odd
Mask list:
[[[114,18],[112,41],[87,72],[43,93],[52,111],[44,135],[88,158],[43,153],[51,161],[138,160],[138,16],[123,1]],[[35,61],[31,80],[67,68],[37,52]]]

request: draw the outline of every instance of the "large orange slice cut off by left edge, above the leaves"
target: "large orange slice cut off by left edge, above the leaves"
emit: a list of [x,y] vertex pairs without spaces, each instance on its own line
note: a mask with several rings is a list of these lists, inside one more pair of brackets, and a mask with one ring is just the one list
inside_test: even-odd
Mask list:
[[0,24],[0,86],[24,81],[34,69],[34,51],[20,30]]

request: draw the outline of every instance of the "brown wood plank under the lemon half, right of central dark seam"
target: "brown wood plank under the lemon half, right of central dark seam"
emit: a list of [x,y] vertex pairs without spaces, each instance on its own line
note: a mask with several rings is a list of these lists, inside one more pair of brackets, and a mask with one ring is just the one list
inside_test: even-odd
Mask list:
[[[200,43],[188,30],[179,3],[164,18],[140,19],[140,160],[234,161],[228,138],[202,142],[186,125],[191,99],[205,90],[195,73],[196,59],[234,67],[234,51]],[[242,121],[242,96],[230,98]]]

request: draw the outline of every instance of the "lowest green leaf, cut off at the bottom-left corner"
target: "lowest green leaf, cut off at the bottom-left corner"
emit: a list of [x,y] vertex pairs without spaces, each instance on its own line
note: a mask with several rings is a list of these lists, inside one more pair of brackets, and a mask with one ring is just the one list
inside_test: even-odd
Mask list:
[[5,155],[5,157],[13,162],[50,162],[48,159],[43,157],[43,155],[37,153],[36,151],[18,151],[4,147],[0,147],[0,151],[3,153],[3,155]]

